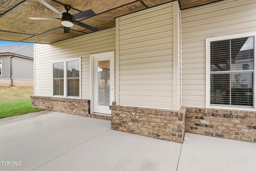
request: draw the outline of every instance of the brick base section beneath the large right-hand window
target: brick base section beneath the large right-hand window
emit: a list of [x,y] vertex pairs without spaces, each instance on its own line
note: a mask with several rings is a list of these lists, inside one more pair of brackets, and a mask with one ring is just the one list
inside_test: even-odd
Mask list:
[[256,143],[256,111],[186,107],[185,132]]

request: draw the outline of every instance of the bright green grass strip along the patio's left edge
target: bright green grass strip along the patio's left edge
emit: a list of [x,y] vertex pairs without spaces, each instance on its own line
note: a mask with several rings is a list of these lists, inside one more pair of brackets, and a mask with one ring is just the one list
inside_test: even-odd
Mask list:
[[0,101],[0,118],[23,115],[36,111],[42,111],[42,109],[31,107],[31,99]]

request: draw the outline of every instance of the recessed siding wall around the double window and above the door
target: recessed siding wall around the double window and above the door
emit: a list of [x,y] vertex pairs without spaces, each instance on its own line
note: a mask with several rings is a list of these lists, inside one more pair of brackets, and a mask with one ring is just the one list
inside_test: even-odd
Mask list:
[[52,62],[81,57],[81,97],[90,99],[90,54],[115,50],[115,28],[35,46],[35,95],[52,96]]

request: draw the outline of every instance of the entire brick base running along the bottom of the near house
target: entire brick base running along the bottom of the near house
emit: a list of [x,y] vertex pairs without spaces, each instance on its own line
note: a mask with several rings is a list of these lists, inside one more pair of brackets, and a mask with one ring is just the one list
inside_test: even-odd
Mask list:
[[[90,100],[31,96],[32,107],[110,120],[90,114]],[[184,107],[180,110],[115,105],[111,129],[182,143],[184,133],[195,133],[256,143],[256,111]]]

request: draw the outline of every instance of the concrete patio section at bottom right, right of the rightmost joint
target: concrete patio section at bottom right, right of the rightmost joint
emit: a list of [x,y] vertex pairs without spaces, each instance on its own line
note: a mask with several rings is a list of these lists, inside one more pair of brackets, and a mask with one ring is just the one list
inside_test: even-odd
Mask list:
[[185,133],[177,171],[256,171],[256,143]]

